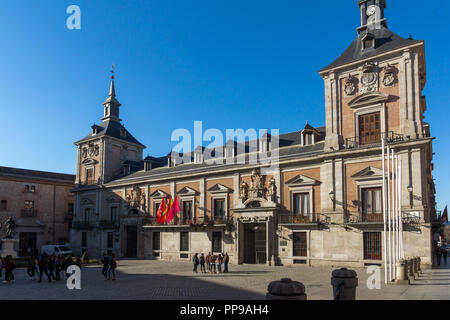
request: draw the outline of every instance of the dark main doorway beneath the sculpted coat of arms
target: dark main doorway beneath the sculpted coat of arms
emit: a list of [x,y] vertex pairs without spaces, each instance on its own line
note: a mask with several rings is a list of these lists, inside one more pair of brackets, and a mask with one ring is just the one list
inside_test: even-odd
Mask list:
[[265,264],[266,252],[266,224],[244,224],[244,263]]

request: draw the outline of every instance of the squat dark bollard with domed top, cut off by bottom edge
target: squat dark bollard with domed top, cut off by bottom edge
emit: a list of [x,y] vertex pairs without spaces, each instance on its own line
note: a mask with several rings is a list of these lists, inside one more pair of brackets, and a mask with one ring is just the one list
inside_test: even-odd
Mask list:
[[305,291],[303,283],[283,278],[269,283],[266,300],[307,300]]

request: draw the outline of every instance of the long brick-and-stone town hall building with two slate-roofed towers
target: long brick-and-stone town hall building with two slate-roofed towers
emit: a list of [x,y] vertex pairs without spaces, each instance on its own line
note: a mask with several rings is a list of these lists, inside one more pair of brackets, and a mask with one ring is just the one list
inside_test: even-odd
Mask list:
[[[389,30],[384,0],[358,1],[361,26],[344,53],[319,71],[325,126],[147,157],[120,123],[114,80],[102,123],[76,142],[72,247],[99,256],[190,260],[228,252],[231,263],[383,264],[381,139],[403,162],[401,210],[406,256],[432,258],[435,186],[432,138],[424,122],[424,41]],[[276,142],[276,143],[275,143]],[[237,150],[271,159],[239,161]],[[275,165],[274,165],[275,164]],[[157,224],[163,198],[181,212]],[[413,218],[411,218],[413,217]]]

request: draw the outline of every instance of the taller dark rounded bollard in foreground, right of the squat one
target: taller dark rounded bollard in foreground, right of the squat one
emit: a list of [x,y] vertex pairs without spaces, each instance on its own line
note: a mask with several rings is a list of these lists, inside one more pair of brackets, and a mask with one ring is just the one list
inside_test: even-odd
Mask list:
[[356,300],[358,278],[356,271],[347,268],[334,270],[331,273],[334,300]]

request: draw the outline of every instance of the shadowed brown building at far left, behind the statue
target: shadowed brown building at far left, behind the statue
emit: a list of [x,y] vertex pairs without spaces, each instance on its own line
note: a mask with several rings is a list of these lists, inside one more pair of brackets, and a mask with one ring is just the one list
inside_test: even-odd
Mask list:
[[40,252],[44,244],[70,242],[75,175],[0,167],[0,239],[12,217],[15,250]]

